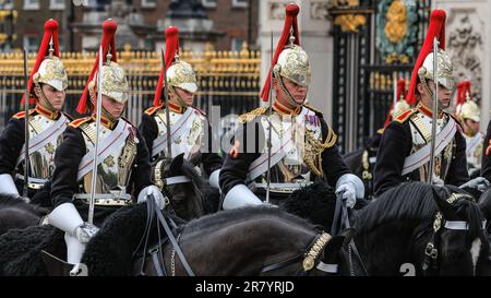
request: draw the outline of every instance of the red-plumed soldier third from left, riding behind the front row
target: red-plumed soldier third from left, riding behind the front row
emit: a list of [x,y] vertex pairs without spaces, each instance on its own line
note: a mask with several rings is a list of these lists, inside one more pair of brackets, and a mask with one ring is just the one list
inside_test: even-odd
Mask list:
[[218,189],[221,157],[212,152],[212,130],[206,116],[192,106],[197,91],[196,75],[189,63],[179,59],[178,28],[168,27],[165,34],[166,52],[154,107],[145,110],[140,126],[149,159],[156,163],[164,156],[184,154],[185,159],[199,156],[209,184]]

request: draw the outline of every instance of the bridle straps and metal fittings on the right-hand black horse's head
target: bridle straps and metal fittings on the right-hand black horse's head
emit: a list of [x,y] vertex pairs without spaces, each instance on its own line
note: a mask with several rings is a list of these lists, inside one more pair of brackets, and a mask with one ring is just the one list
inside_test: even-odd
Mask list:
[[[446,200],[452,206],[459,200],[470,200],[475,201],[472,196],[464,193],[452,193],[451,196]],[[438,208],[438,207],[436,207]],[[439,261],[439,248],[440,248],[440,235],[443,227],[451,230],[468,230],[469,225],[464,220],[446,220],[441,211],[436,211],[434,216],[432,230],[433,234],[431,236],[430,241],[427,243],[424,248],[424,259],[422,263],[422,272],[424,275],[435,274],[438,272],[438,261]],[[482,228],[486,228],[486,220],[482,222]],[[420,238],[427,230],[422,230],[417,237]]]

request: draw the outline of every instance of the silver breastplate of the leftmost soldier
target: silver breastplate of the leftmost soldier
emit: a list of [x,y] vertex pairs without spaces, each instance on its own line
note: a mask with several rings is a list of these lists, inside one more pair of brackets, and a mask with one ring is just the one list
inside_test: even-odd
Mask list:
[[[29,116],[29,140],[47,130],[56,121],[43,115]],[[55,142],[47,143],[36,152],[29,152],[31,178],[49,179],[52,176],[55,170],[55,152],[62,141],[63,136],[60,134]],[[24,162],[20,163],[19,172],[24,174]]]

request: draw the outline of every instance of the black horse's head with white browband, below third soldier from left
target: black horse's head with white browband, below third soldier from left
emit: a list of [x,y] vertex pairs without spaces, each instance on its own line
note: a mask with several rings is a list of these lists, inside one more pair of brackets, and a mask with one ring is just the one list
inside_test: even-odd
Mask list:
[[200,177],[193,164],[184,159],[183,154],[175,158],[163,158],[157,162],[153,171],[154,182],[169,198],[176,214],[184,220],[200,217],[204,214],[203,193],[204,180]]

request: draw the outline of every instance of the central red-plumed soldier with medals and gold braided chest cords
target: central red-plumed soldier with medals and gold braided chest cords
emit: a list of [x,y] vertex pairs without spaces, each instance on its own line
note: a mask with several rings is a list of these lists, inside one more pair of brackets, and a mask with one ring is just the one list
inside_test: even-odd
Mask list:
[[[363,183],[345,165],[336,134],[322,112],[304,105],[310,62],[300,47],[298,13],[298,5],[287,5],[283,35],[272,59],[273,78],[262,92],[267,100],[273,86],[276,100],[273,104],[270,98],[270,109],[261,107],[239,118],[242,126],[220,171],[224,210],[262,204],[262,200],[270,203],[270,193],[272,203],[277,203],[320,179],[335,186],[349,207],[363,198]],[[264,140],[271,140],[270,145]]]

